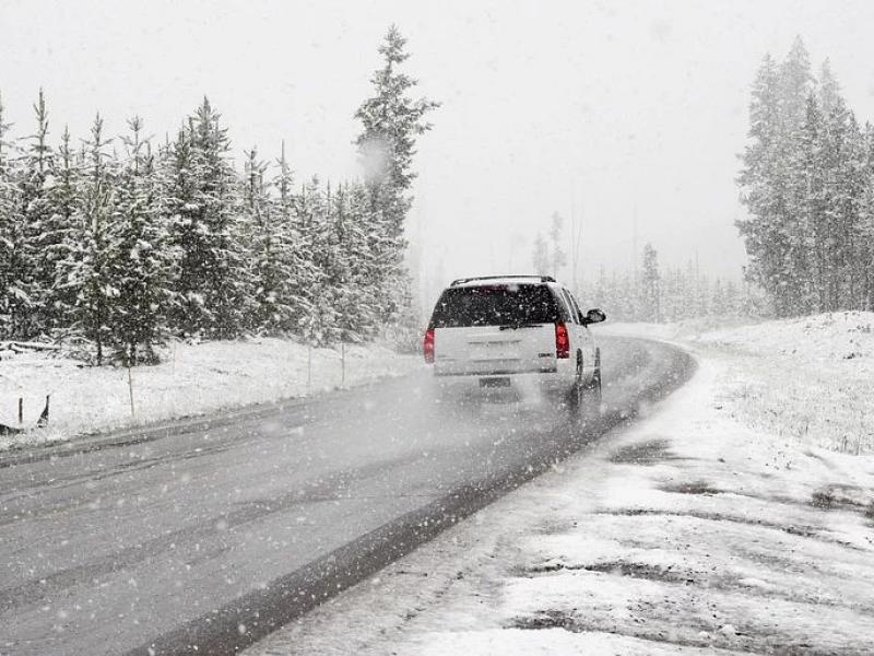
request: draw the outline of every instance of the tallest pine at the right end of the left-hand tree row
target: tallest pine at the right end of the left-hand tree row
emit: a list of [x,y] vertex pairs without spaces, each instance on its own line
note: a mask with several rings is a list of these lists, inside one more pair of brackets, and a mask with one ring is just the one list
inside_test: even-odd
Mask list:
[[403,314],[401,306],[405,302],[392,294],[404,288],[395,279],[404,276],[404,221],[412,203],[410,188],[416,177],[413,171],[416,138],[430,129],[424,117],[439,106],[427,98],[410,97],[416,81],[400,70],[409,58],[405,44],[406,39],[392,25],[379,47],[383,65],[370,79],[374,95],[355,113],[363,126],[355,143],[370,200],[368,229],[371,247],[379,249],[382,262],[376,271],[382,277],[378,281],[383,289],[382,314],[389,321]]

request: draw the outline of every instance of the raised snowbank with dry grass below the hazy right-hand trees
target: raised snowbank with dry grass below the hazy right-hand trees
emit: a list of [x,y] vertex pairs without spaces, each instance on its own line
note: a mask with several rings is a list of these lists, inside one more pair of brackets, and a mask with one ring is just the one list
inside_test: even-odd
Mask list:
[[718,402],[749,426],[832,450],[874,452],[874,313],[737,323],[609,324],[600,330],[672,341],[721,361]]

